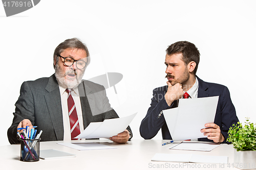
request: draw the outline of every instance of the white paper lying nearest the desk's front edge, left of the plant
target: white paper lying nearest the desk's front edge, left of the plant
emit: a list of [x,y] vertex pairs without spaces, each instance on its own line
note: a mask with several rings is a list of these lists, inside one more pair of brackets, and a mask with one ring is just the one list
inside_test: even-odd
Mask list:
[[207,156],[195,154],[155,154],[152,161],[193,162],[193,163],[228,163],[227,156]]

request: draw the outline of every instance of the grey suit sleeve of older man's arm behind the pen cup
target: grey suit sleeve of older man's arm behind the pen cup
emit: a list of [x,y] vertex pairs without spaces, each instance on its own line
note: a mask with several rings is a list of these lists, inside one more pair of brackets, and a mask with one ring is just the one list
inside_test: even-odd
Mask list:
[[11,127],[7,131],[8,140],[11,144],[20,143],[17,138],[17,126],[25,118],[34,124],[34,102],[33,94],[27,82],[20,87],[20,95],[15,103],[14,118]]

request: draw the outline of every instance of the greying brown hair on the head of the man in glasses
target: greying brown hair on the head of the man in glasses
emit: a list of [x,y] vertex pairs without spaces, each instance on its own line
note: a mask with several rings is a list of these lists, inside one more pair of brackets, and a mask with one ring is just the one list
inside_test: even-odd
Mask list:
[[90,54],[86,44],[82,43],[78,38],[66,39],[61,42],[54,50],[53,54],[53,67],[55,68],[54,61],[58,62],[58,56],[67,48],[77,48],[86,51],[87,54],[87,66],[90,64]]

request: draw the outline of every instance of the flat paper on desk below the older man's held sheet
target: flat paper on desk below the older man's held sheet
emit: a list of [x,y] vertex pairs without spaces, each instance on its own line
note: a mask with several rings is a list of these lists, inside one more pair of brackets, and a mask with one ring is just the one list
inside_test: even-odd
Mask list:
[[114,147],[110,147],[108,145],[100,144],[100,143],[87,143],[87,142],[77,142],[77,143],[69,143],[63,142],[58,143],[65,147],[73,148],[75,150],[83,151],[83,150],[105,150],[105,149],[116,149]]

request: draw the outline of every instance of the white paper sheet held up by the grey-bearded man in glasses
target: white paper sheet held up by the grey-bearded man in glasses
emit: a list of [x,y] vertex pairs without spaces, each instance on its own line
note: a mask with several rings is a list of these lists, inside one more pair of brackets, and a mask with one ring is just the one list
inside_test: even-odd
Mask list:
[[75,138],[109,138],[123,132],[137,113],[130,116],[105,119],[103,122],[93,122]]

